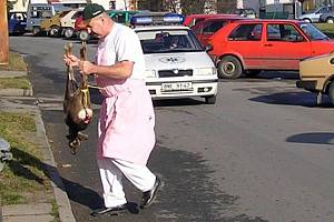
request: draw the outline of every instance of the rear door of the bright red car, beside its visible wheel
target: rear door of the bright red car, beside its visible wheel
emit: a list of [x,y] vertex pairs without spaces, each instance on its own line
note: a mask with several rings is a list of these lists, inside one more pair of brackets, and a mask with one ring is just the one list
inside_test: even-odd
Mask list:
[[240,23],[227,37],[225,53],[239,57],[244,69],[262,69],[263,67],[263,24],[262,22]]

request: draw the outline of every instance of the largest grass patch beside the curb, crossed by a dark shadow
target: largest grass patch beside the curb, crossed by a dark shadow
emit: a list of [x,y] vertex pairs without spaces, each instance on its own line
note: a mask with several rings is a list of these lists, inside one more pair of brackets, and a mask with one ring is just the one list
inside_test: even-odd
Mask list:
[[[0,112],[0,137],[11,145],[13,160],[0,173],[2,204],[27,203],[51,189],[36,144],[35,118],[29,113]],[[31,198],[32,196],[32,198]]]

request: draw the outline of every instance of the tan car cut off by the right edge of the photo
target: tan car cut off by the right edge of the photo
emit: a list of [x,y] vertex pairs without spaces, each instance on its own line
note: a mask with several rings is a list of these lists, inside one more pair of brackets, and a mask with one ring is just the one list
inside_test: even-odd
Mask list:
[[[334,105],[334,53],[306,58],[299,63],[298,88],[330,95]],[[320,98],[321,99],[321,98]],[[321,101],[317,101],[321,103]]]

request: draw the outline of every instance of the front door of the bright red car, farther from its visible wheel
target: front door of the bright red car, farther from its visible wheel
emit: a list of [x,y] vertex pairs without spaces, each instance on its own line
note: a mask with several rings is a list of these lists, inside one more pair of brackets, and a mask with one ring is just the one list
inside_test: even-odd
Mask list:
[[298,70],[299,60],[311,56],[311,48],[293,23],[268,22],[262,47],[264,69]]

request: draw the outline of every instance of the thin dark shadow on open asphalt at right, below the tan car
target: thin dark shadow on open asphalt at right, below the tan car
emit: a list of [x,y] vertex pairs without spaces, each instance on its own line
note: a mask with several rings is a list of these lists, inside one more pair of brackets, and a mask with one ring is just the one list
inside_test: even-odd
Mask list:
[[286,139],[286,142],[313,143],[313,144],[334,144],[334,133],[332,132],[310,132],[299,133]]

